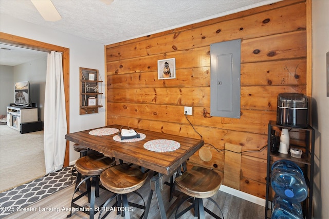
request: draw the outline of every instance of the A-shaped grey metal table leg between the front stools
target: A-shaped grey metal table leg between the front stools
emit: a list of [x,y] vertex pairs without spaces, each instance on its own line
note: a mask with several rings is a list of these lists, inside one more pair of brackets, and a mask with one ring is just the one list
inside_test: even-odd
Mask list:
[[148,203],[145,208],[145,215],[144,215],[145,219],[148,218],[148,214],[149,214],[149,210],[150,210],[150,206],[151,206],[151,200],[152,200],[152,196],[153,196],[153,191],[155,191],[156,199],[157,199],[159,210],[160,210],[161,219],[167,219],[166,209],[165,209],[165,205],[163,205],[161,189],[160,189],[162,186],[162,184],[160,182],[161,178],[162,178],[162,175],[160,173],[158,173],[157,175],[153,176],[150,180],[151,190],[150,190],[150,194],[149,194]]

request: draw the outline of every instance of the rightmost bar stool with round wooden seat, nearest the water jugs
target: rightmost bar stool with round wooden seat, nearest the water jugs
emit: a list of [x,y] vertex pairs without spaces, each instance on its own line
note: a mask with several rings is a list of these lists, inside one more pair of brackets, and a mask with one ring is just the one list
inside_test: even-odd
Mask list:
[[[207,198],[220,209],[223,215],[220,206],[211,198],[222,185],[222,177],[218,173],[204,167],[194,166],[191,170],[187,170],[175,178],[175,185],[182,193],[189,196],[186,200],[182,200],[179,203],[175,218],[185,214],[191,208],[194,208],[194,216],[198,218],[205,218],[205,211],[215,218],[221,218],[203,205],[203,198]],[[179,206],[191,198],[193,198],[193,204],[177,213]]]

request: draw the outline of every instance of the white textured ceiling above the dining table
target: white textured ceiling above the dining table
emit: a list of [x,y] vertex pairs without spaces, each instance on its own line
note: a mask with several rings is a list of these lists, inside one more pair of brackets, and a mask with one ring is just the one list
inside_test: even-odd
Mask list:
[[108,45],[278,1],[52,0],[62,19],[46,22],[29,0],[0,0],[0,13]]

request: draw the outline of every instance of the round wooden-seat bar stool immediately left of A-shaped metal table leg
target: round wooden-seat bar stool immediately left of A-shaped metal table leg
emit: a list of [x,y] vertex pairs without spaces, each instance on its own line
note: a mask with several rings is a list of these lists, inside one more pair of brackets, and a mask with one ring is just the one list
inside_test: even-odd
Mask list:
[[[129,206],[145,209],[145,202],[143,197],[136,191],[142,187],[148,178],[148,173],[143,173],[137,168],[133,168],[125,163],[116,165],[106,169],[100,175],[100,181],[102,185],[109,191],[115,193],[112,197],[108,198],[104,207],[108,205],[114,198],[117,198],[117,202],[113,206],[117,206],[118,212],[122,211],[122,216],[126,219],[130,218]],[[128,202],[127,194],[134,192],[140,196],[144,202],[144,206],[135,203]],[[122,209],[123,208],[123,209]],[[98,218],[105,218],[111,211],[107,211],[103,217],[101,217],[102,211],[99,213]],[[144,212],[140,216],[142,218]]]

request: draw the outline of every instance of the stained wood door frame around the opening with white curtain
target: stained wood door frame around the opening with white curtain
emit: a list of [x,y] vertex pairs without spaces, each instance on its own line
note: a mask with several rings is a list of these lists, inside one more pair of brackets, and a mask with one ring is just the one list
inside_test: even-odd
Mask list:
[[[56,51],[62,52],[63,57],[63,80],[65,92],[65,109],[67,132],[69,132],[69,49],[61,46],[35,41],[33,39],[15,36],[8,33],[0,32],[0,43],[10,44],[12,46],[24,47],[28,49],[41,50],[44,52]],[[69,142],[66,141],[64,166],[69,166]]]

